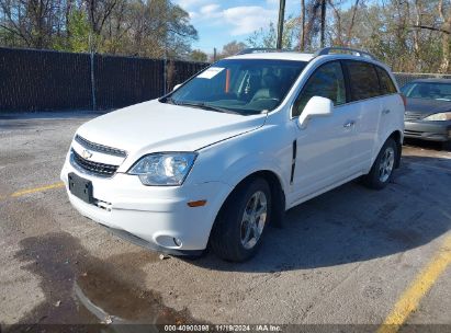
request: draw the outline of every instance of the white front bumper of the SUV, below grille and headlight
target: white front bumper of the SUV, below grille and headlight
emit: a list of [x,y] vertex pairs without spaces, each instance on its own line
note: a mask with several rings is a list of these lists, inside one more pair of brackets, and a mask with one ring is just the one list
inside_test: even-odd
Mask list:
[[[70,172],[92,182],[94,204],[69,192]],[[81,215],[135,244],[177,255],[199,254],[206,248],[216,215],[232,191],[219,182],[145,186],[137,176],[124,173],[97,177],[76,170],[69,161],[60,177],[70,203]],[[207,200],[205,206],[188,206],[203,199]]]

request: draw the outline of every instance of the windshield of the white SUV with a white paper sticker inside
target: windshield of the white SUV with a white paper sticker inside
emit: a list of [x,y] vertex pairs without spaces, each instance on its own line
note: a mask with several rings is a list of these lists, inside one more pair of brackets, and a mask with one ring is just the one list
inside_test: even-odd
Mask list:
[[241,115],[268,112],[283,101],[306,64],[221,60],[160,101]]

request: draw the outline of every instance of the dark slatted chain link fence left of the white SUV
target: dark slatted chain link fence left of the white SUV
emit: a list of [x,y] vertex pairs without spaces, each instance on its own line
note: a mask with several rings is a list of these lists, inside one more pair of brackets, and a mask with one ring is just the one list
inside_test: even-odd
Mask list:
[[123,107],[159,97],[208,65],[0,47],[0,113]]

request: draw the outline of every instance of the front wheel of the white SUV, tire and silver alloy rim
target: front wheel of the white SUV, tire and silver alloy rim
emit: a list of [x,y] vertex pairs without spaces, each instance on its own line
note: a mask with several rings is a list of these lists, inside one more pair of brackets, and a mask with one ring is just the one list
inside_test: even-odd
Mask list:
[[271,191],[263,179],[239,185],[221,209],[211,234],[211,245],[219,257],[244,262],[261,243],[271,216]]

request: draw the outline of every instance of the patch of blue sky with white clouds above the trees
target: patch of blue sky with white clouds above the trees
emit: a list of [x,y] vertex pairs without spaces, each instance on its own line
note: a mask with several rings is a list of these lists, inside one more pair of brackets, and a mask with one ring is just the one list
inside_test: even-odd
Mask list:
[[[193,49],[213,54],[232,41],[246,42],[252,32],[278,21],[279,0],[173,0],[191,18],[199,32]],[[301,1],[286,0],[285,18],[298,15]]]

